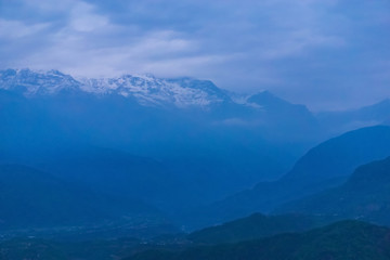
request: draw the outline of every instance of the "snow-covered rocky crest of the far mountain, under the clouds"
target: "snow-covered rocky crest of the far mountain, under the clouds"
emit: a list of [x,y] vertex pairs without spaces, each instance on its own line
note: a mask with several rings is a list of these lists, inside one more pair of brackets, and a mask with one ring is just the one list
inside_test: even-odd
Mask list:
[[117,78],[73,78],[57,70],[0,70],[0,89],[17,90],[26,96],[82,91],[95,95],[118,94],[145,106],[207,107],[232,102],[226,91],[209,80],[162,79],[151,75]]

